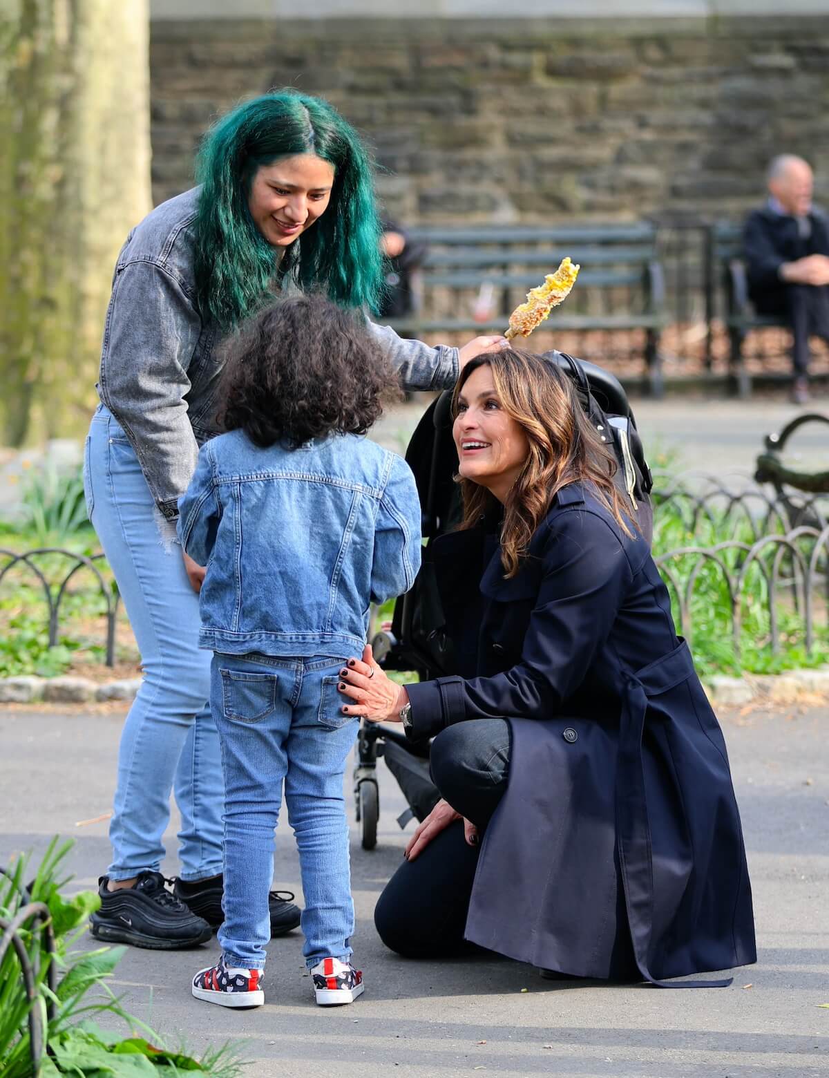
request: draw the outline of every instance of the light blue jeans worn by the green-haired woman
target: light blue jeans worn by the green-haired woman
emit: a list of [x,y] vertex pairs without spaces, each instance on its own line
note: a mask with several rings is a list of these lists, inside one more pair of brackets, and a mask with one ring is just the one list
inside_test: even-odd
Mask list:
[[175,789],[181,879],[218,875],[222,770],[207,704],[210,653],[198,648],[198,596],[175,525],[156,510],[135,451],[103,406],[86,439],[84,489],[144,672],[121,736],[108,874],[128,880],[160,868]]

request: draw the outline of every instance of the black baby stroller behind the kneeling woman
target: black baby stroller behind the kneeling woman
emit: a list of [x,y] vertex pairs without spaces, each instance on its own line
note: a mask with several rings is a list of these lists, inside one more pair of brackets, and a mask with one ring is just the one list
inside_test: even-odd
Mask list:
[[[575,382],[585,414],[613,448],[619,461],[616,482],[628,498],[643,535],[650,542],[653,514],[650,503],[652,479],[645,460],[633,412],[619,379],[595,363],[574,359],[566,353],[543,356]],[[414,586],[395,604],[389,632],[372,640],[374,658],[387,671],[411,671],[420,680],[456,673],[452,641],[446,637],[440,596],[429,548],[438,536],[460,522],[460,497],[453,480],[457,454],[452,440],[452,392],[446,390],[424,413],[409,443],[405,459],[414,472],[423,507],[423,535],[427,540],[423,565]],[[397,778],[409,807],[398,817],[401,827],[410,819],[424,819],[439,799],[429,776],[429,745],[415,744],[389,727],[363,721],[357,742],[354,793],[363,849],[377,843],[379,792],[377,758]]]

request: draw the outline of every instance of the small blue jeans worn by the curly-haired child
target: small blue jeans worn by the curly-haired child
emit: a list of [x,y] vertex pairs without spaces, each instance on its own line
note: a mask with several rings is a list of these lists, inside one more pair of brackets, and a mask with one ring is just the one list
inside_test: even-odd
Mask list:
[[300,854],[306,964],[351,955],[343,775],[359,723],[341,711],[342,665],[330,657],[213,655],[210,699],[224,768],[224,923],[218,936],[229,966],[265,965],[282,784]]

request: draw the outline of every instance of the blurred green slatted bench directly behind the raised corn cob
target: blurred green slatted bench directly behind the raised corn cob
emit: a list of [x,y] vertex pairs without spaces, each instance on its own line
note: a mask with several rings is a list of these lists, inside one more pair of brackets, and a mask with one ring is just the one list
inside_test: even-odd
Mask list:
[[[659,343],[667,316],[654,225],[423,227],[410,235],[427,243],[429,253],[418,275],[416,309],[389,320],[399,333],[503,332],[526,292],[569,255],[581,265],[578,285],[551,327],[556,332],[644,330],[647,383],[652,396],[662,396]],[[492,298],[485,312],[476,312],[482,289]]]

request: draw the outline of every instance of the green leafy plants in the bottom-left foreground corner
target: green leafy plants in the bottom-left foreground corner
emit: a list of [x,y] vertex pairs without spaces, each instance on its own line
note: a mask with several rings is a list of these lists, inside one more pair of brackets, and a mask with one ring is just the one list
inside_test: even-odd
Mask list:
[[[240,1064],[227,1046],[209,1049],[201,1060],[168,1049],[144,1023],[128,1014],[106,984],[118,964],[123,948],[73,951],[85,931],[89,913],[99,899],[93,892],[72,898],[61,895],[67,883],[59,877],[71,843],[54,839],[28,886],[24,884],[28,858],[18,857],[5,875],[0,876],[0,918],[3,927],[30,902],[49,908],[47,925],[26,918],[17,935],[23,943],[26,964],[33,975],[27,992],[24,963],[13,946],[0,959],[0,1074],[3,1078],[172,1078],[180,1072],[197,1072],[212,1078],[235,1078]],[[50,938],[54,948],[50,946]],[[54,986],[53,986],[54,985]],[[99,994],[92,995],[93,990]],[[40,1065],[32,1062],[30,1017],[44,1032],[47,1054]],[[118,1037],[100,1029],[94,1019],[120,1019],[134,1035]],[[37,1052],[36,1052],[37,1054]]]

